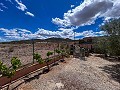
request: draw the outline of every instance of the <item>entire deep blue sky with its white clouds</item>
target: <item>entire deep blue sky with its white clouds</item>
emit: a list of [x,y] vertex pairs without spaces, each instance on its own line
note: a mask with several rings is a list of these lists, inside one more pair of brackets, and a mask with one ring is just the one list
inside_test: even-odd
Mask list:
[[119,0],[0,0],[0,42],[104,36],[119,17]]

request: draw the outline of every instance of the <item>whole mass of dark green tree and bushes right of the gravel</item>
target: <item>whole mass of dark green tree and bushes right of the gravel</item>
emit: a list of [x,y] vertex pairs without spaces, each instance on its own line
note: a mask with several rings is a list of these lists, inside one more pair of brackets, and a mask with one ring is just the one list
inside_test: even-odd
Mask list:
[[101,26],[106,36],[95,39],[95,51],[120,56],[120,18],[112,19]]

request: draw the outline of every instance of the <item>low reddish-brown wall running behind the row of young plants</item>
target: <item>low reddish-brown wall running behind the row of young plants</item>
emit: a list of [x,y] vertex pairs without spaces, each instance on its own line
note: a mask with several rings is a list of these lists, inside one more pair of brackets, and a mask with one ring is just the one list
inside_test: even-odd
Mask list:
[[[48,62],[48,65],[51,65],[62,58],[63,58],[63,56],[58,56],[58,55],[51,57],[52,60]],[[28,75],[34,71],[37,71],[38,69],[43,68],[45,66],[47,66],[47,63],[45,63],[45,62],[43,64],[39,64],[36,62],[35,64],[29,64],[27,66],[21,67],[21,68],[19,68],[19,70],[16,71],[16,73],[12,77],[11,81],[15,82],[15,81],[25,77],[26,75]],[[10,78],[1,76],[0,77],[0,88],[5,87],[9,82],[10,82]]]

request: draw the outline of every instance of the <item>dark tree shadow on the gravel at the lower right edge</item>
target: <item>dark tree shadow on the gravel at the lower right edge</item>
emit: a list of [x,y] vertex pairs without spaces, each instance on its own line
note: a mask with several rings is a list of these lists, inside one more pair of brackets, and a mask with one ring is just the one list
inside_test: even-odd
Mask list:
[[110,78],[120,83],[120,64],[100,67],[104,72],[110,75]]

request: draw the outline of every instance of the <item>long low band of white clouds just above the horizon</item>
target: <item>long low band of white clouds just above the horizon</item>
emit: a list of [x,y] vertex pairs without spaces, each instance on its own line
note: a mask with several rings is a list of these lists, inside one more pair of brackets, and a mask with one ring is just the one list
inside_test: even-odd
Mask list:
[[[0,33],[4,35],[4,37],[0,37],[4,41],[12,41],[12,40],[28,40],[28,39],[46,39],[51,37],[56,38],[70,38],[74,39],[74,31],[70,29],[61,28],[59,31],[50,31],[45,29],[38,28],[38,31],[32,33],[30,30],[14,28],[14,29],[5,29],[0,28]],[[75,32],[75,37],[94,37],[94,36],[103,36],[105,32],[93,32],[93,30],[87,30],[83,32]],[[1,41],[1,40],[0,40]]]

